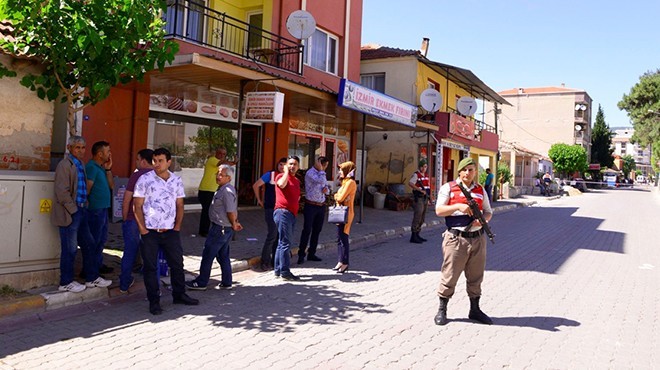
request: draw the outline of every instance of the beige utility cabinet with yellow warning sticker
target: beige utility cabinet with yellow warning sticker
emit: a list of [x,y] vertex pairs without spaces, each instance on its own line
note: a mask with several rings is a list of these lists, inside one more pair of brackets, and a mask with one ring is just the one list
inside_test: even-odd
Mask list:
[[57,268],[53,172],[0,171],[0,275]]

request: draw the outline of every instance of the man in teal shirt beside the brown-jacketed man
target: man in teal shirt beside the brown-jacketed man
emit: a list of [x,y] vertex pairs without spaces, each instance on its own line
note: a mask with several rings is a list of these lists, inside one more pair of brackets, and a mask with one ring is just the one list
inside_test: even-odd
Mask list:
[[[108,240],[108,209],[110,208],[112,188],[112,153],[110,143],[98,141],[92,145],[92,159],[85,166],[87,172],[87,191],[89,206],[87,208],[87,225],[83,225],[82,233],[89,234],[87,251],[89,258],[95,263],[85,266],[85,275],[88,288],[107,287],[112,282],[100,277],[100,273],[112,272],[112,269],[103,265],[103,247]],[[102,269],[105,267],[105,269]]]

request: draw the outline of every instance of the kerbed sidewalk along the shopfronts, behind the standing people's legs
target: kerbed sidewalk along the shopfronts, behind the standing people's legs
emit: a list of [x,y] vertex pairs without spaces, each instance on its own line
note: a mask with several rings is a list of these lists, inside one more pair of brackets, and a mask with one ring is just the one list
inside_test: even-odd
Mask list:
[[[542,197],[540,195],[527,195],[516,199],[506,199],[497,201],[493,204],[494,213],[505,212],[518,207],[527,207],[536,203],[545,202],[554,197]],[[200,212],[186,212],[181,229],[181,239],[184,251],[184,268],[187,279],[192,278],[198,273],[201,253],[204,248],[205,238],[198,237],[197,228],[199,225]],[[245,271],[261,262],[261,249],[266,235],[266,224],[264,213],[261,208],[250,207],[239,209],[239,220],[244,230],[237,233],[235,240],[231,243],[231,257],[233,272]],[[359,248],[367,242],[373,243],[378,240],[389,239],[403,235],[402,241],[408,243],[410,233],[410,223],[412,221],[412,210],[396,212],[387,209],[378,210],[364,207],[364,214],[360,220],[360,210],[356,207],[356,214],[353,226],[351,227],[350,245],[351,249]],[[296,220],[295,236],[292,239],[296,247],[292,248],[294,258],[292,267],[295,268],[297,261],[297,245],[300,240],[300,234],[303,228],[303,217],[299,214]],[[422,236],[432,240],[431,231],[444,228],[444,219],[437,217],[433,207],[429,207],[426,216],[426,225],[422,229]],[[439,235],[439,232],[435,232]],[[337,229],[334,225],[325,224],[319,237],[318,250],[335,250],[337,247]],[[41,320],[45,316],[51,316],[50,313],[56,309],[83,305],[83,309],[94,309],[97,301],[101,300],[124,300],[124,299],[143,299],[144,284],[140,274],[133,274],[135,284],[129,290],[129,294],[119,292],[119,272],[121,255],[123,249],[123,238],[121,233],[121,224],[111,224],[109,226],[108,242],[106,243],[104,263],[114,268],[110,274],[106,274],[107,279],[112,279],[113,284],[108,288],[86,289],[82,293],[59,292],[57,286],[42,287],[28,291],[26,295],[18,298],[3,299],[0,298],[0,321],[5,319],[25,318],[26,316]],[[80,253],[78,253],[80,259]],[[310,262],[305,262],[310,263]],[[311,262],[314,263],[314,262]],[[79,263],[77,269],[79,269]],[[76,270],[78,271],[78,270]],[[212,280],[219,280],[220,268],[214,263],[211,273]],[[168,278],[163,278],[168,283]],[[96,303],[94,303],[96,302]],[[65,310],[62,310],[65,311]],[[57,313],[56,313],[57,314]],[[67,316],[66,312],[59,312],[59,315]]]

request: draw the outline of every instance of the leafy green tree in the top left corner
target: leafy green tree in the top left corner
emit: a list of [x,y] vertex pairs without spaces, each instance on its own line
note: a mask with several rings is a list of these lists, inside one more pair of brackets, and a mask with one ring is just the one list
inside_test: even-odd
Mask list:
[[162,0],[12,0],[4,12],[14,39],[0,47],[34,55],[45,66],[21,84],[41,99],[68,105],[69,131],[74,114],[105,99],[113,86],[141,81],[145,73],[174,60],[178,45],[163,39]]

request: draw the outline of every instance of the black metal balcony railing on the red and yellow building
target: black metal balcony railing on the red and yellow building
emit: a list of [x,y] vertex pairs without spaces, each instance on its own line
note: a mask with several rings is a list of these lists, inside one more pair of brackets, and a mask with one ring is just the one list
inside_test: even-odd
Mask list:
[[208,8],[199,1],[168,0],[165,37],[302,75],[303,45]]

